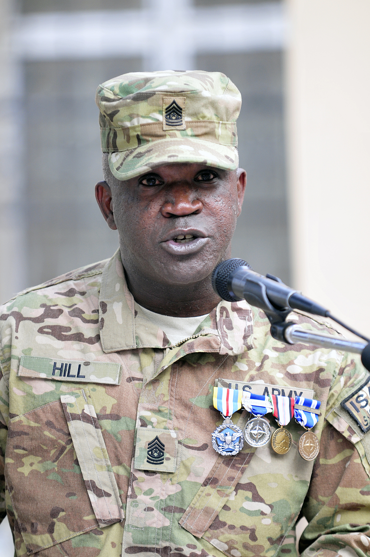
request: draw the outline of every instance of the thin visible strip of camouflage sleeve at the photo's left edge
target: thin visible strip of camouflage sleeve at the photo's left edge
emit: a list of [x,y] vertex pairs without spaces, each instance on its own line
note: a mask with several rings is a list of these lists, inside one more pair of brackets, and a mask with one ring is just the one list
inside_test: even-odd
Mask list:
[[[9,358],[10,360],[10,358]],[[5,364],[5,365],[4,365]],[[6,517],[5,503],[5,448],[8,436],[9,419],[9,392],[8,385],[4,377],[4,370],[7,368],[4,351],[0,346],[0,522]]]

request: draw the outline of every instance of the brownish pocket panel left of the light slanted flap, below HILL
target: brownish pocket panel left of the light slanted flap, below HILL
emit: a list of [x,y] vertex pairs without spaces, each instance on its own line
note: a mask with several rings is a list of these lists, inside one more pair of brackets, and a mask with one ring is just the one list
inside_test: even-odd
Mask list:
[[9,420],[5,462],[17,549],[44,555],[98,528],[60,400]]

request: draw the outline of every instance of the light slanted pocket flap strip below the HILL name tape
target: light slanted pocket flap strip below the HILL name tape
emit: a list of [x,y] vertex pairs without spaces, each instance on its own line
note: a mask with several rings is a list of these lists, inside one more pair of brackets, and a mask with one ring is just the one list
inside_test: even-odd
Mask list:
[[99,526],[124,520],[118,486],[89,389],[85,387],[60,399]]

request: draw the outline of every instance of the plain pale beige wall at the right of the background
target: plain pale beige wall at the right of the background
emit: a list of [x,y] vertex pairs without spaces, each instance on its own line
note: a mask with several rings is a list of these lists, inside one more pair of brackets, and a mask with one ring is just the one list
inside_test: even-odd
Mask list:
[[292,282],[370,335],[370,2],[287,4]]

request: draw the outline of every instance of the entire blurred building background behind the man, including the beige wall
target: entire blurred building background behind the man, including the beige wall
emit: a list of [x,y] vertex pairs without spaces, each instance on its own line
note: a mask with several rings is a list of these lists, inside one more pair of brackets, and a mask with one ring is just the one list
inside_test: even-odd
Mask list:
[[0,0],[0,301],[113,254],[96,86],[185,67],[243,97],[233,256],[370,335],[369,23],[368,0]]

